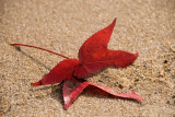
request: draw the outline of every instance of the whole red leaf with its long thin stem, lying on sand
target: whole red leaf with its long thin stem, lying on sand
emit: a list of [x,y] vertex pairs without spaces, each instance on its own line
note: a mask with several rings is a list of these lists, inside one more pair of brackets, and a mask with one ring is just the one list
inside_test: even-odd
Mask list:
[[88,85],[101,89],[106,93],[109,93],[117,97],[132,98],[143,102],[144,100],[136,94],[131,93],[114,93],[114,90],[96,85],[92,82],[85,81],[85,78],[93,75],[96,72],[102,71],[106,67],[125,68],[131,65],[139,56],[139,52],[131,54],[122,50],[110,50],[107,48],[110,35],[113,33],[116,19],[107,27],[98,31],[90,38],[88,38],[79,50],[79,60],[71,59],[63,55],[24,44],[11,44],[13,46],[26,46],[33,47],[48,52],[61,56],[66,58],[60,61],[49,73],[36,83],[32,83],[33,86],[55,84],[63,82],[62,93],[65,101],[65,109],[67,109],[72,101],[85,89]]

